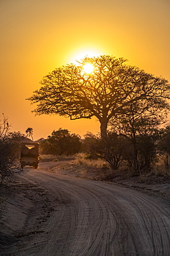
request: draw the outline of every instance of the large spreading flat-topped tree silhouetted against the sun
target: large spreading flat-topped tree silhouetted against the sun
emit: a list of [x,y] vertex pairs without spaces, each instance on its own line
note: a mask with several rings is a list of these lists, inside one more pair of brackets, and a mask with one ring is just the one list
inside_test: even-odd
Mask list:
[[[72,120],[95,116],[101,138],[107,140],[109,120],[125,113],[129,104],[150,99],[166,102],[170,95],[167,80],[125,62],[123,58],[101,55],[56,68],[43,77],[41,88],[28,100],[37,104],[34,112],[38,115],[55,113]],[[94,66],[92,73],[83,70],[87,63]]]

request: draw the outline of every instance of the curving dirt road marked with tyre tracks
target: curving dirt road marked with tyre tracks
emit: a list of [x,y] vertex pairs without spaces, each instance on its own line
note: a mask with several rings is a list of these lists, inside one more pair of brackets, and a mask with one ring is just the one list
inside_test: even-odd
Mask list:
[[160,199],[47,172],[45,165],[30,168],[22,179],[32,184],[25,190],[32,204],[17,241],[3,255],[170,255],[169,207]]

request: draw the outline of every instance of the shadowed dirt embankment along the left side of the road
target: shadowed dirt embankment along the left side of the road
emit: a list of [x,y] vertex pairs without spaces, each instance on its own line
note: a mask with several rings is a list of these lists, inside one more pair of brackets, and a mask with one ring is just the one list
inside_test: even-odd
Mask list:
[[53,208],[49,192],[21,177],[0,190],[0,248],[6,252],[12,244],[18,247],[30,235],[41,232],[39,224],[47,220]]

